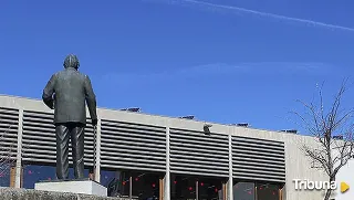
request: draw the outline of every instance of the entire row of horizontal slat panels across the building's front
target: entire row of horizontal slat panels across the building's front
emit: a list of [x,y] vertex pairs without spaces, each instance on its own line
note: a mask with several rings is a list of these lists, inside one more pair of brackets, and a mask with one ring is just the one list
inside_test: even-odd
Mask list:
[[[21,107],[22,108],[22,107]],[[0,157],[17,158],[20,112],[0,107]],[[106,115],[110,116],[110,115]],[[168,127],[168,124],[121,122],[104,114],[98,125],[101,138],[100,161],[102,169],[133,169],[165,172],[169,152],[171,173],[208,177],[229,177],[229,159],[232,176],[247,181],[285,181],[284,143],[229,134]],[[123,118],[124,116],[122,116]],[[123,120],[123,119],[122,119]],[[21,124],[20,124],[21,125]],[[20,126],[21,127],[21,126]],[[167,143],[169,129],[169,144]],[[100,133],[98,133],[100,134]],[[87,118],[85,128],[85,166],[93,166],[93,127]],[[55,129],[53,113],[34,110],[24,106],[22,118],[22,160],[30,165],[55,166]],[[169,149],[166,149],[169,146]],[[70,144],[71,147],[71,144]],[[229,158],[229,150],[232,157]],[[70,150],[70,162],[72,160]]]

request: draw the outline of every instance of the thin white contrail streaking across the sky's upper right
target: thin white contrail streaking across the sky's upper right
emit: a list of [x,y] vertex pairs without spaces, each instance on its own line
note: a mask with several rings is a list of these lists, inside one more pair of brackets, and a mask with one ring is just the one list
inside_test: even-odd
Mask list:
[[228,10],[233,10],[233,11],[239,11],[239,12],[246,12],[246,13],[251,13],[251,14],[262,15],[262,17],[267,17],[267,18],[284,20],[284,21],[293,21],[293,22],[306,23],[306,24],[312,24],[312,25],[317,25],[317,27],[323,27],[323,28],[329,28],[329,29],[337,29],[337,30],[354,32],[353,28],[334,25],[334,24],[330,24],[330,23],[323,23],[323,22],[317,22],[317,21],[312,21],[312,20],[304,20],[304,19],[299,19],[299,18],[291,18],[291,17],[280,15],[280,14],[268,13],[268,12],[260,12],[260,11],[244,9],[244,8],[240,8],[240,7],[222,6],[222,4],[216,4],[216,3],[197,1],[197,0],[180,0],[180,1],[189,2],[189,3],[194,3],[194,4],[207,6],[210,8],[228,9]]

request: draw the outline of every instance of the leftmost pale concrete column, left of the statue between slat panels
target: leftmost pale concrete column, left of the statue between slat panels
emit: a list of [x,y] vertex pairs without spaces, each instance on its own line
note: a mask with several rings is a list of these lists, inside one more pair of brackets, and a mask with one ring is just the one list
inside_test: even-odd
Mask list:
[[19,124],[18,124],[18,149],[15,157],[15,176],[14,187],[21,188],[21,173],[22,173],[22,130],[23,130],[23,109],[19,109]]

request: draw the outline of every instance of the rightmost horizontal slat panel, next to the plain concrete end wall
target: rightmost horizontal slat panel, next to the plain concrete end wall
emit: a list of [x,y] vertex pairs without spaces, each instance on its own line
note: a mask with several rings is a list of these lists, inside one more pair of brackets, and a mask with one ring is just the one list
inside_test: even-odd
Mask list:
[[232,167],[237,179],[284,182],[284,143],[235,136]]

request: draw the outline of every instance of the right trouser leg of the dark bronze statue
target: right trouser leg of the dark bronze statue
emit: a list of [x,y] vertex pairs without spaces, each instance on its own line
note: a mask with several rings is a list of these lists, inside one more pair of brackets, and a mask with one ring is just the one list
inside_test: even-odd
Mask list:
[[81,124],[71,129],[74,175],[76,179],[84,178],[84,133],[85,126]]

